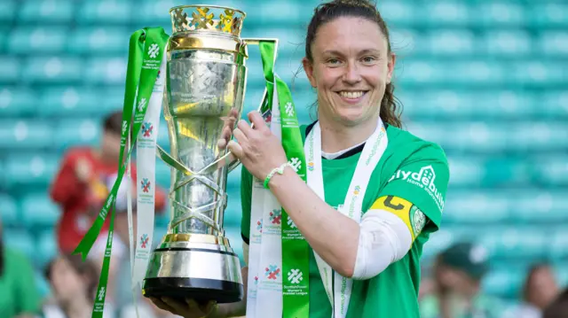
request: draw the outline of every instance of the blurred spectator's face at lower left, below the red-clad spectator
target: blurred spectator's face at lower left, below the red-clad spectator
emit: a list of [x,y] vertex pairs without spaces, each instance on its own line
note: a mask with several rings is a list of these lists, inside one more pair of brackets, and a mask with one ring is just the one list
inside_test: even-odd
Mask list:
[[67,260],[56,260],[51,269],[51,288],[59,301],[67,302],[79,296],[84,297],[85,285],[83,276]]

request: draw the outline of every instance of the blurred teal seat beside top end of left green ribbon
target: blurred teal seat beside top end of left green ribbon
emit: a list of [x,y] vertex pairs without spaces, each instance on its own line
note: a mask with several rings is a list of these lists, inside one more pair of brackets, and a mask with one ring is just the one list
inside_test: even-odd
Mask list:
[[128,53],[130,33],[123,27],[82,27],[70,35],[68,50],[95,56]]

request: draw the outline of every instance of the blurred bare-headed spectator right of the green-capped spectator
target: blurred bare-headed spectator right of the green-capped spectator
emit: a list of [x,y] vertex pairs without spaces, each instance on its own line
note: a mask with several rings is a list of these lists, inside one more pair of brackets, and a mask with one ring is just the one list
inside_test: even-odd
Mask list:
[[548,264],[533,266],[526,276],[522,303],[511,309],[507,318],[540,318],[542,310],[558,295],[558,285]]

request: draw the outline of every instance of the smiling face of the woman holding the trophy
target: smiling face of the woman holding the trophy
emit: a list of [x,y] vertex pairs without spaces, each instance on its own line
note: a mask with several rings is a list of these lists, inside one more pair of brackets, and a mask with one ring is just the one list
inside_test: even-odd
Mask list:
[[377,119],[395,58],[374,21],[341,17],[321,25],[312,58],[304,58],[304,69],[318,89],[319,118],[346,126]]

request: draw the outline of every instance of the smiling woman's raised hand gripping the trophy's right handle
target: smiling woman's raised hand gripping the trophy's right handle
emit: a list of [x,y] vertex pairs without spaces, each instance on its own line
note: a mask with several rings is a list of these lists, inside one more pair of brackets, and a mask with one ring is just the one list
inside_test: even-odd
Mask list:
[[245,120],[239,120],[233,131],[237,141],[230,141],[228,148],[248,172],[264,180],[272,169],[280,167],[288,159],[280,140],[272,134],[259,112],[248,112],[248,120],[255,128],[251,128]]

